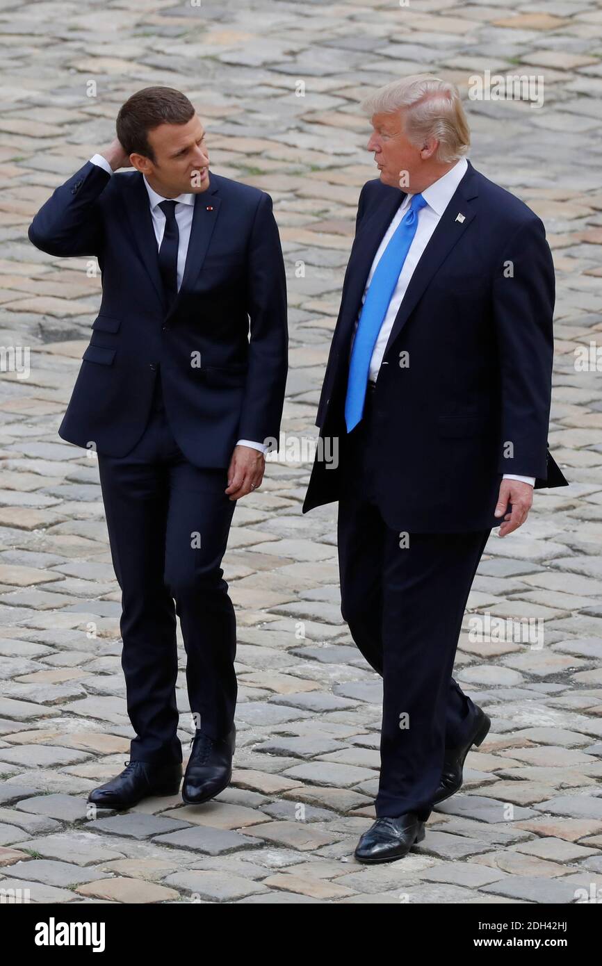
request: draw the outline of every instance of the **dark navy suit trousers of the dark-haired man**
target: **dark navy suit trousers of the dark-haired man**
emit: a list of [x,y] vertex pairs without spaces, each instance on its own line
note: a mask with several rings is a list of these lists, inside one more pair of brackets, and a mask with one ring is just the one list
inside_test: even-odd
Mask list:
[[224,493],[225,469],[187,462],[169,428],[159,376],[141,439],[127,456],[99,454],[99,470],[122,590],[122,667],[136,733],[130,757],[167,762],[182,761],[176,614],[196,727],[220,738],[234,721],[236,619],[220,563],[236,501]]

